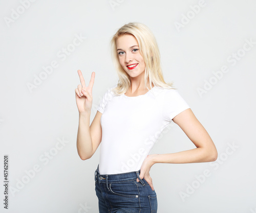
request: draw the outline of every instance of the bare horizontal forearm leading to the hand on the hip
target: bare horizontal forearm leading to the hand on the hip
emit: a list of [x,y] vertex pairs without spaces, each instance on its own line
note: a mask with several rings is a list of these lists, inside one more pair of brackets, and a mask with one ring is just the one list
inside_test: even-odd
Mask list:
[[169,154],[155,154],[153,156],[154,163],[198,163],[210,162],[216,160],[217,151],[206,150],[205,148],[195,148],[191,150],[181,151]]

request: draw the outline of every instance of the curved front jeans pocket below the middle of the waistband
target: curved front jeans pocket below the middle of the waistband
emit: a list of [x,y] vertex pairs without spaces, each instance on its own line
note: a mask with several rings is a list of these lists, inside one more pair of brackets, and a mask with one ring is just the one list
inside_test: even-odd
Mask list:
[[131,198],[139,197],[139,191],[134,181],[110,183],[109,189],[110,189],[110,192],[112,192],[115,195],[131,197]]

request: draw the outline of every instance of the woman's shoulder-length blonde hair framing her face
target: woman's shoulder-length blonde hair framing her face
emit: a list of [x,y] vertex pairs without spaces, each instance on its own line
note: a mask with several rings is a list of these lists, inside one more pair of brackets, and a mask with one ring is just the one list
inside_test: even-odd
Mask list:
[[172,87],[173,82],[166,83],[164,81],[162,68],[160,64],[160,52],[158,49],[155,36],[151,32],[151,30],[148,29],[142,23],[130,22],[122,26],[121,28],[119,28],[116,34],[112,37],[110,41],[110,44],[112,46],[111,55],[112,55],[114,66],[116,67],[117,75],[119,78],[117,87],[113,88],[112,90],[116,94],[123,94],[131,86],[130,76],[125,72],[125,70],[119,63],[117,46],[116,46],[116,40],[120,36],[125,34],[133,35],[139,43],[140,54],[142,55],[145,62],[145,75],[144,75],[145,86],[148,79],[150,82],[151,89],[152,89],[152,82],[155,86],[168,88],[168,89],[176,89]]

